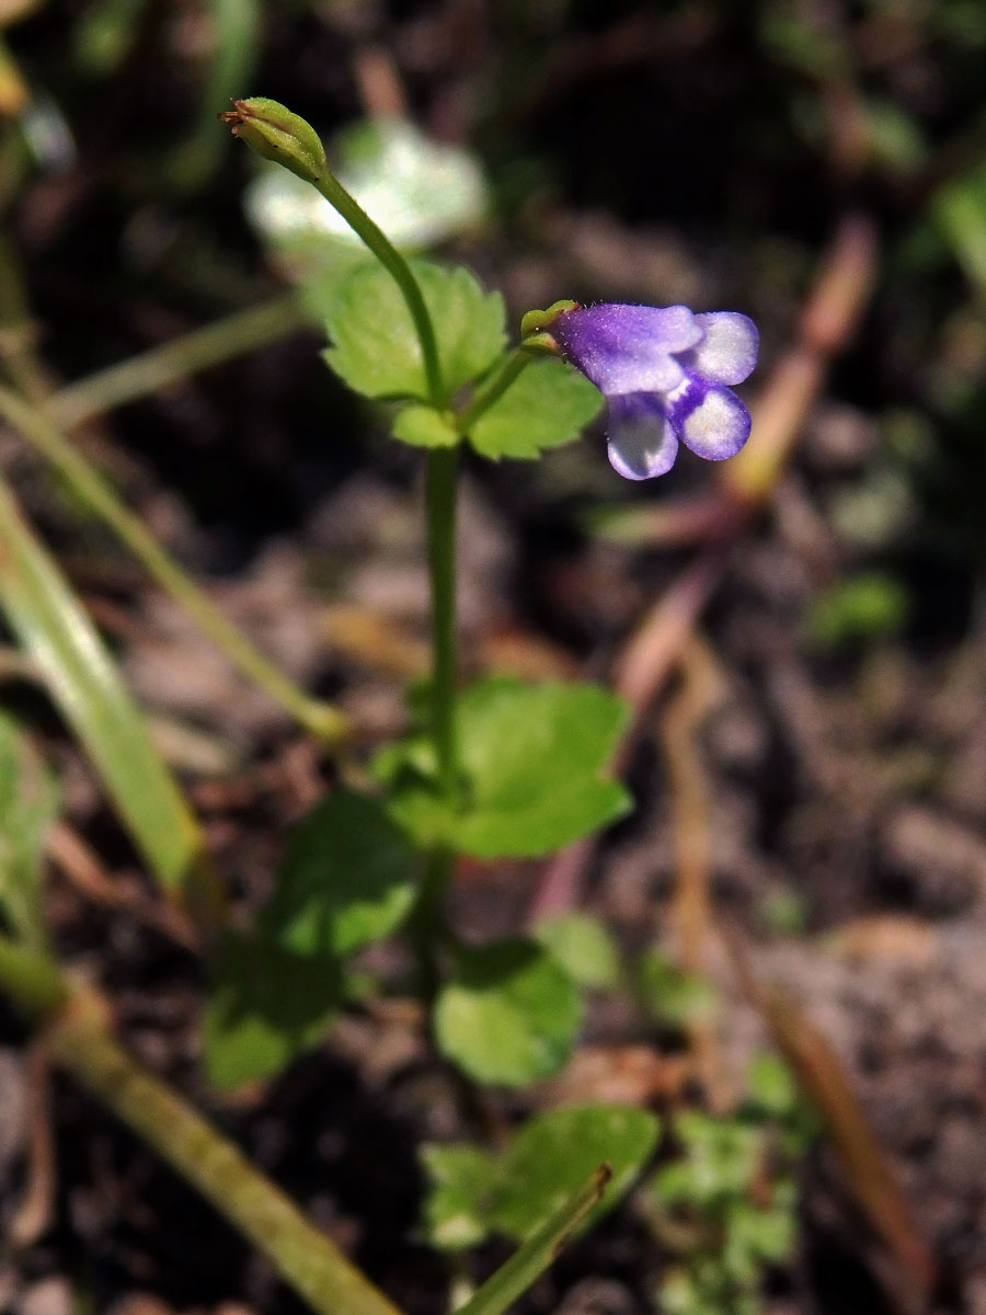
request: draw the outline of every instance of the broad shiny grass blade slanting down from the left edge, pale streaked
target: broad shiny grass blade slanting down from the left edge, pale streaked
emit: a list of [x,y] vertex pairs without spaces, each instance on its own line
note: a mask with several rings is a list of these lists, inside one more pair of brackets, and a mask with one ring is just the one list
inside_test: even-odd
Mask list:
[[96,627],[4,485],[0,608],[162,886],[192,896],[195,884],[208,898],[199,826]]

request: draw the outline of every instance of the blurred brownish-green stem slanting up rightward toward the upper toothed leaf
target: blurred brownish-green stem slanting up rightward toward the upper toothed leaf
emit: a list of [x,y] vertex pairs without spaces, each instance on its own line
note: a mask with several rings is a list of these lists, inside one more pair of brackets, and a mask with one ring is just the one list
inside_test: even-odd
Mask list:
[[287,338],[305,325],[304,309],[293,292],[272,297],[68,384],[47,405],[59,423],[71,427],[200,370]]

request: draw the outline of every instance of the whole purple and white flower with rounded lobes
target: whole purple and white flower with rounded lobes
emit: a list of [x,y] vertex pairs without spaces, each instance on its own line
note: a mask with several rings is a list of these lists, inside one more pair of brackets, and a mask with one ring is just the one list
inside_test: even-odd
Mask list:
[[550,326],[561,356],[609,402],[609,458],[630,480],[664,475],[678,443],[710,462],[735,456],[749,412],[728,387],[757,360],[756,325],[736,310],[575,306]]

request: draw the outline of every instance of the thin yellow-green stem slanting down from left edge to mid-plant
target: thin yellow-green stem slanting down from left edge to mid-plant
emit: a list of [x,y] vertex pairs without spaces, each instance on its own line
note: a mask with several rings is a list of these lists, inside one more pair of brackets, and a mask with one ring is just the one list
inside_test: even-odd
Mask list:
[[43,412],[0,388],[0,416],[58,469],[75,494],[113,530],[149,573],[189,613],[234,665],[313,735],[330,746],[347,736],[348,723],[330,704],[310,698],[270,661],[162,548],[143,521],[128,510],[108,480],[79,455]]

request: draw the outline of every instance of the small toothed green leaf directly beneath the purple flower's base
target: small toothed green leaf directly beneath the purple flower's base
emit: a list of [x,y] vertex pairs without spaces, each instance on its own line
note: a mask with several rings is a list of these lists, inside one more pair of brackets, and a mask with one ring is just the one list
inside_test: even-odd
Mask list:
[[561,360],[532,362],[476,421],[469,442],[482,456],[532,460],[578,438],[599,413],[602,393]]

